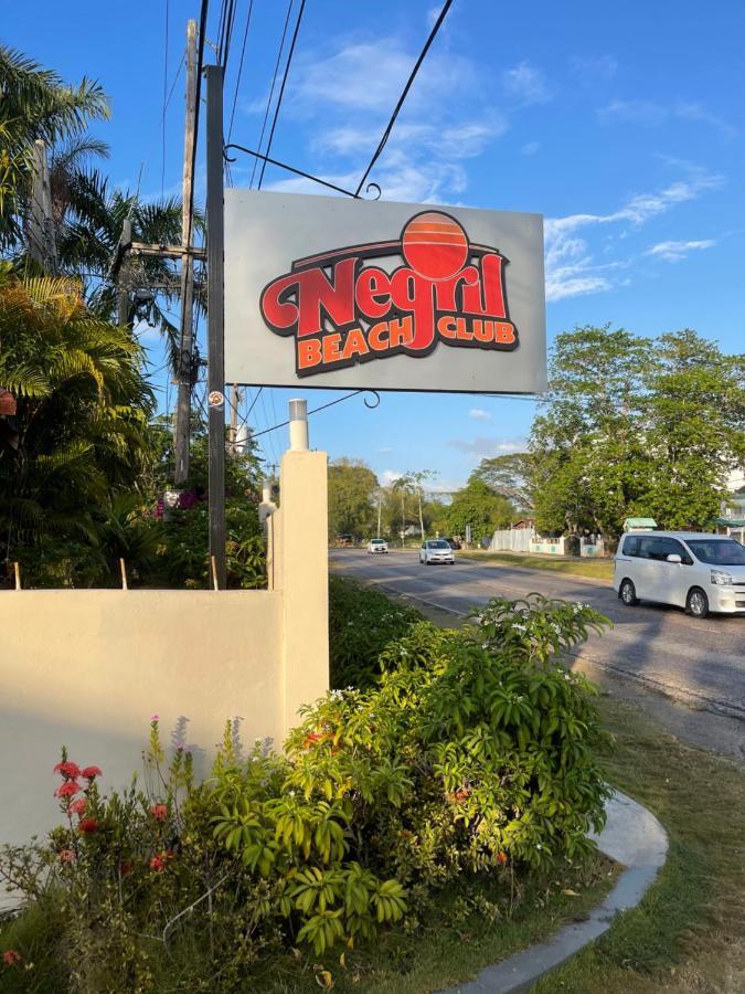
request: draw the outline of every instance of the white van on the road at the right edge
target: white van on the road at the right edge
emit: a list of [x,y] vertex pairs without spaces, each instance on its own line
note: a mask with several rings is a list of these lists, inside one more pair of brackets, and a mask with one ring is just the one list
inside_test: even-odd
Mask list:
[[745,613],[745,546],[724,535],[643,531],[625,535],[614,590],[631,606],[658,601],[693,617]]

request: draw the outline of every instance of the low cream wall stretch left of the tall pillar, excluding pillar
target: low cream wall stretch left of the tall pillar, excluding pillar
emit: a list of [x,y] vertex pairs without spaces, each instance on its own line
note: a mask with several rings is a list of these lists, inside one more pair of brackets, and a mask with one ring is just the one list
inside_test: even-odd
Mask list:
[[206,772],[227,719],[281,743],[281,594],[268,591],[20,591],[0,594],[0,839],[56,819],[65,744],[102,789],[141,771],[149,721]]

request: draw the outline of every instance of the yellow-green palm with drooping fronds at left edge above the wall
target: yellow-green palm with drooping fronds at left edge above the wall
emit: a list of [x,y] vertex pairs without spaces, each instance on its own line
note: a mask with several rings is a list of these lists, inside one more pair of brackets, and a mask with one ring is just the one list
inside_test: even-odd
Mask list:
[[131,331],[93,315],[79,281],[0,265],[0,383],[18,401],[0,442],[4,559],[95,542],[95,509],[137,488],[152,455],[140,367]]

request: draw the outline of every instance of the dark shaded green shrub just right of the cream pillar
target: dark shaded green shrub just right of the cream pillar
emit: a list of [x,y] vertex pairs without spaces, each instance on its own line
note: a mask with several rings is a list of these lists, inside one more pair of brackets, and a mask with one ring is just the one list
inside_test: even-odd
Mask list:
[[372,687],[381,673],[379,656],[424,616],[394,604],[354,580],[329,578],[331,686]]

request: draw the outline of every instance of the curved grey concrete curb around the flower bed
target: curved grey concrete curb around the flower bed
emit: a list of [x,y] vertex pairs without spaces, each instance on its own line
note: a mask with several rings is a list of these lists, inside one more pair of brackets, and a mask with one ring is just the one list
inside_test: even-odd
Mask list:
[[608,897],[585,921],[565,926],[545,942],[487,966],[476,977],[441,994],[518,994],[570,960],[610,929],[616,916],[636,908],[664,865],[668,836],[654,815],[617,792],[606,805],[608,819],[598,849],[626,869]]

